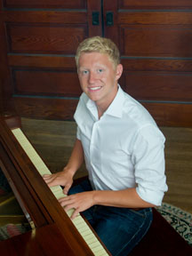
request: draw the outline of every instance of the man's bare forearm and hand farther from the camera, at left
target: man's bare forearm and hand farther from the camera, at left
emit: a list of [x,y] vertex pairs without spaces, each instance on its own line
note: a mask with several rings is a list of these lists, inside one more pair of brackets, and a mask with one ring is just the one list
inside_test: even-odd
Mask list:
[[53,174],[45,174],[44,181],[49,187],[52,186],[64,186],[64,194],[68,194],[68,189],[71,188],[73,183],[73,177],[76,171],[84,162],[84,150],[82,147],[81,140],[75,142],[74,148],[72,150],[71,156],[68,160],[68,164],[65,166],[62,172],[57,172]]

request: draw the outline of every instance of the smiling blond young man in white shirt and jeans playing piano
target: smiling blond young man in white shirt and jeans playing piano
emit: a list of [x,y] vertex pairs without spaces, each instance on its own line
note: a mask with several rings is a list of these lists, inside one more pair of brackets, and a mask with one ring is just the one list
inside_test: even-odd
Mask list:
[[[85,39],[76,52],[83,90],[76,108],[76,143],[62,172],[45,175],[64,186],[60,204],[83,212],[112,255],[127,255],[147,233],[151,207],[162,203],[164,135],[148,111],[123,92],[119,51],[100,36]],[[84,162],[89,180],[71,188]]]

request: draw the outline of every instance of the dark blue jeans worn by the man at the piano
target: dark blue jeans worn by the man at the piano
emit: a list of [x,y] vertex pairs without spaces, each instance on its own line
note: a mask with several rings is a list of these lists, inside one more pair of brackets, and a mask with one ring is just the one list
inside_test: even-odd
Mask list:
[[[91,190],[89,180],[84,180],[70,188],[68,194]],[[151,208],[134,211],[129,208],[94,205],[82,213],[113,256],[128,255],[146,235],[153,219]]]

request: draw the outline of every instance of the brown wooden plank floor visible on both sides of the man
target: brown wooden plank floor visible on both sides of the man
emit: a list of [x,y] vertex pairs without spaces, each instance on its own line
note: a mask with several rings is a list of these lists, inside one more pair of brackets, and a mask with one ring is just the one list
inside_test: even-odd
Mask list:
[[[165,161],[169,187],[164,202],[192,213],[192,128],[160,127],[166,138]],[[22,130],[51,172],[60,172],[67,164],[76,139],[76,124],[22,118]],[[86,174],[84,166],[76,178]]]

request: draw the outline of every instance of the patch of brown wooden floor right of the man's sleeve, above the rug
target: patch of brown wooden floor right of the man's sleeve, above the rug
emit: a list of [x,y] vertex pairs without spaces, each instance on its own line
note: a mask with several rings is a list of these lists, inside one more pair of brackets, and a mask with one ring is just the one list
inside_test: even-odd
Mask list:
[[161,127],[169,186],[164,202],[192,213],[192,128]]

